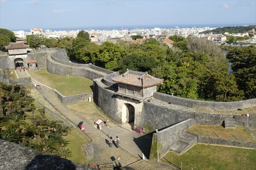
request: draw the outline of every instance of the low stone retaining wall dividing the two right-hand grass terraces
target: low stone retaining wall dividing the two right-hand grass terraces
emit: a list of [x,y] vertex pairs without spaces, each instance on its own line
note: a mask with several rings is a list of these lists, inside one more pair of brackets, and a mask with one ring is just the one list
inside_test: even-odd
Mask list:
[[193,133],[193,132],[188,132],[188,133],[191,133],[191,134],[197,136],[198,144],[214,144],[214,145],[229,146],[229,147],[256,149],[256,143],[254,143],[254,142],[230,140],[230,139],[224,139],[224,138],[215,138],[215,137],[210,137],[210,136],[199,135],[199,134]]

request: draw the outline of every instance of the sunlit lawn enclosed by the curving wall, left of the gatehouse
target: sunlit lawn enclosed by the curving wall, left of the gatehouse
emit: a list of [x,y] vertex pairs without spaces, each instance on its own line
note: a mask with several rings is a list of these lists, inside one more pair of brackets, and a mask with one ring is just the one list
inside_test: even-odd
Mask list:
[[55,88],[64,96],[90,93],[93,81],[84,77],[59,76],[50,74],[47,70],[28,71],[30,76],[51,88]]

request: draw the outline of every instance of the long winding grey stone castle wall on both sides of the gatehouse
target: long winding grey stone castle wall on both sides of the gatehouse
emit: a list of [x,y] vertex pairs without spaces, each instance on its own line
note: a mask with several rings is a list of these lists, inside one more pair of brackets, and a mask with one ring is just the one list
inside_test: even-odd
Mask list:
[[[57,75],[69,75],[77,77],[86,77],[95,79],[93,85],[93,99],[96,105],[106,113],[111,119],[122,123],[122,113],[119,113],[122,106],[118,102],[115,91],[117,83],[112,82],[112,78],[119,75],[118,72],[106,70],[92,64],[78,64],[68,60],[65,49],[53,48],[58,50],[46,59],[47,71]],[[52,51],[53,49],[47,49]],[[44,53],[46,49],[34,51],[29,55],[35,59],[35,54]],[[1,58],[1,57],[0,57]],[[103,78],[102,78],[103,77]],[[185,99],[167,94],[155,93],[154,98],[157,102],[143,102],[142,110],[135,115],[137,127],[147,127],[149,131],[162,129],[169,125],[174,125],[186,119],[194,119],[198,125],[221,125],[225,117],[230,115],[209,114],[204,112],[191,111],[189,109],[176,109],[168,106],[168,103],[175,105],[185,105],[190,108],[208,108],[208,109],[237,109],[256,106],[256,99],[244,100],[239,102],[207,102],[192,99]],[[129,100],[129,99],[125,99]],[[136,111],[135,111],[136,112]],[[157,119],[156,119],[157,118]],[[234,116],[237,125],[247,126],[246,116]],[[256,116],[248,117],[248,127],[255,128]]]

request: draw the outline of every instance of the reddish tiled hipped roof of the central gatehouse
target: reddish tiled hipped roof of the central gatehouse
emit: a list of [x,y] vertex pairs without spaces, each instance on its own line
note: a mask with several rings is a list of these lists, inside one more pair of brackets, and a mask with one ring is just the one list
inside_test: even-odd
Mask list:
[[152,87],[163,82],[163,79],[157,79],[156,77],[149,75],[147,72],[144,73],[131,70],[127,70],[124,74],[114,77],[112,80],[125,85],[142,88]]

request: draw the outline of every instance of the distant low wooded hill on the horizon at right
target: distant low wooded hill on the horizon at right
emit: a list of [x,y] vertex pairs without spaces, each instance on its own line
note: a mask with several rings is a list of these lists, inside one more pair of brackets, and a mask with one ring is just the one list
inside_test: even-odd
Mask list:
[[247,31],[252,30],[256,26],[233,26],[233,27],[221,27],[221,28],[216,28],[208,31],[203,31],[200,32],[199,34],[209,34],[212,32],[212,34],[224,34],[225,32],[228,32],[229,34],[237,34],[237,33],[244,33]]

